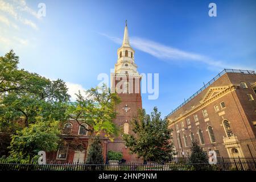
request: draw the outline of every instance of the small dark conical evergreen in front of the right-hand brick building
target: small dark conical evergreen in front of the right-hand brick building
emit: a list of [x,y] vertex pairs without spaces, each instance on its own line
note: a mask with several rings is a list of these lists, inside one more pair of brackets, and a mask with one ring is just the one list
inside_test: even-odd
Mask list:
[[195,164],[200,163],[201,165],[194,165],[196,170],[205,170],[208,165],[208,156],[205,152],[200,148],[196,141],[192,141],[191,143],[191,156],[188,159],[189,163]]

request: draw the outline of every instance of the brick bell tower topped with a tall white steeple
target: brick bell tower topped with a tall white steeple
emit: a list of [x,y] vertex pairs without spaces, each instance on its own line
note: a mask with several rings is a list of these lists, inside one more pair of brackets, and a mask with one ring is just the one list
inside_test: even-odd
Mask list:
[[129,154],[129,150],[123,141],[123,133],[129,134],[131,130],[131,120],[137,116],[138,109],[142,109],[141,99],[141,78],[137,72],[137,65],[134,63],[134,49],[129,43],[127,21],[125,25],[125,34],[123,35],[122,46],[117,50],[117,63],[114,73],[111,74],[112,92],[118,94],[121,103],[115,108],[118,113],[114,123],[121,129],[119,137],[113,142],[108,142],[108,151],[119,151],[123,154],[123,159],[128,162],[137,161],[136,155]]

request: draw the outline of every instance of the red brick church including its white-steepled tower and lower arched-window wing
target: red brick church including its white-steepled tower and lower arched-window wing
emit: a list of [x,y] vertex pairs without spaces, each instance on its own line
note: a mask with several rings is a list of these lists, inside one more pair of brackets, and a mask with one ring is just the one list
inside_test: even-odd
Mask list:
[[[115,107],[117,117],[114,123],[122,129],[123,133],[130,133],[130,122],[137,115],[138,109],[142,108],[141,78],[137,72],[137,65],[134,62],[134,49],[130,46],[127,23],[123,36],[122,46],[117,50],[117,63],[114,73],[111,74],[111,90],[121,98],[121,103]],[[47,154],[47,162],[50,163],[84,163],[88,148],[90,133],[86,130],[86,123],[81,126],[69,119],[63,126],[63,144],[56,152]],[[127,162],[135,162],[139,159],[136,155],[129,154],[122,139],[122,133],[114,141],[101,137],[103,156],[106,160],[107,152],[122,152],[123,159]]]

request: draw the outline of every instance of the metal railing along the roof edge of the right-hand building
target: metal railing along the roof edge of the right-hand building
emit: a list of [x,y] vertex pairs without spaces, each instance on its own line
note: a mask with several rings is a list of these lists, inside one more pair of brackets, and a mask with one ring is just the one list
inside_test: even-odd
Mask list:
[[220,78],[225,73],[243,73],[243,74],[255,75],[255,71],[242,70],[242,69],[224,69],[222,72],[218,73],[217,76],[212,78],[212,80],[210,80],[207,84],[205,84],[201,89],[199,89],[196,93],[194,93],[191,97],[189,97],[187,100],[185,100],[176,109],[172,110],[171,113],[167,115],[167,117],[169,117],[170,115],[174,114],[177,110],[179,110],[182,106],[184,106],[189,101],[191,101],[194,97],[196,97],[204,89],[208,88],[208,86],[210,86],[214,81],[216,81],[218,78]]

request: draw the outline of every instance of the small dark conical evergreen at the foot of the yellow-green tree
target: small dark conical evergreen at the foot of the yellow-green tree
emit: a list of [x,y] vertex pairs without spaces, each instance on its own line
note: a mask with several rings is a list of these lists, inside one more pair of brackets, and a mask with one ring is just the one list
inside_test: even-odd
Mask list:
[[101,140],[100,137],[96,137],[90,144],[86,164],[103,164],[103,162]]

